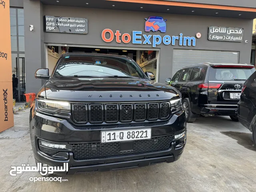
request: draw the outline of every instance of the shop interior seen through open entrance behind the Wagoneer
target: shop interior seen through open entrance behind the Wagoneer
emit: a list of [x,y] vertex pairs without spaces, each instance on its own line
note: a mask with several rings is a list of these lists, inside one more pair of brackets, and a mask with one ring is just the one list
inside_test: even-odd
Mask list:
[[[64,47],[64,46],[47,46],[47,67],[50,74],[54,69],[58,58],[66,53],[101,53],[125,55],[136,61],[144,72],[153,72],[156,76],[157,51],[152,50],[122,50],[122,49],[102,49],[102,48],[84,48],[84,47]],[[156,80],[155,80],[156,81]]]

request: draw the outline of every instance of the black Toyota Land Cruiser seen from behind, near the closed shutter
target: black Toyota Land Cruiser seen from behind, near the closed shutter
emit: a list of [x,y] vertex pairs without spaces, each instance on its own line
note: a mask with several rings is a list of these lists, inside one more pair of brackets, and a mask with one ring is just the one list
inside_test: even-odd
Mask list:
[[230,116],[238,121],[242,85],[254,71],[248,64],[202,63],[182,68],[166,82],[182,93],[187,122],[194,122],[200,114]]

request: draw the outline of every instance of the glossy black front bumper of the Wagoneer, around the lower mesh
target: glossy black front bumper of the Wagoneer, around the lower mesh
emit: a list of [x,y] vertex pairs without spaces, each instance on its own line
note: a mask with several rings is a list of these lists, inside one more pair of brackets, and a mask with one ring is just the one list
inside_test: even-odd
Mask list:
[[39,149],[38,139],[56,142],[59,144],[79,144],[84,142],[99,142],[101,130],[122,130],[151,128],[152,137],[174,136],[186,130],[184,112],[181,110],[164,122],[75,126],[67,120],[46,116],[32,110],[30,115],[30,137],[36,162],[49,166],[63,166],[68,163],[68,172],[54,172],[55,174],[75,174],[77,172],[119,170],[148,166],[161,162],[174,162],[180,158],[185,144],[175,148],[175,140],[170,141],[170,146],[164,150],[139,152],[118,156],[104,156],[91,159],[77,159],[72,150],[66,150],[55,156],[50,156]]

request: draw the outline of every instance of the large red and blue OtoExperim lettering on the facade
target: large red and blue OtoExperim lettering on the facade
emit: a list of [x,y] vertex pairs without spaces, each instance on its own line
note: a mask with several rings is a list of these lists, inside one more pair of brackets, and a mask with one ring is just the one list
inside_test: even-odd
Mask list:
[[156,47],[161,43],[165,45],[179,46],[196,46],[195,37],[186,37],[182,33],[179,36],[160,36],[160,35],[146,35],[142,34],[142,31],[133,31],[132,35],[128,33],[121,34],[119,30],[114,33],[111,29],[104,29],[101,33],[102,40],[107,43],[112,42],[114,39],[117,43],[130,43],[132,44],[150,44],[152,47]]

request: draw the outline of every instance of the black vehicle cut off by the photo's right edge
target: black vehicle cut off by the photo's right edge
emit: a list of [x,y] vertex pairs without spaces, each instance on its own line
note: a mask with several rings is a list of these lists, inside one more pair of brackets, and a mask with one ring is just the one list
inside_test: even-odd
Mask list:
[[238,102],[238,119],[252,132],[256,146],[256,72],[248,78],[242,87],[241,99]]

